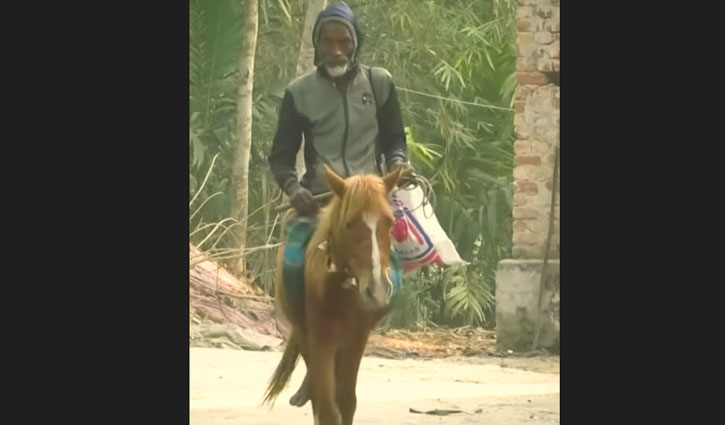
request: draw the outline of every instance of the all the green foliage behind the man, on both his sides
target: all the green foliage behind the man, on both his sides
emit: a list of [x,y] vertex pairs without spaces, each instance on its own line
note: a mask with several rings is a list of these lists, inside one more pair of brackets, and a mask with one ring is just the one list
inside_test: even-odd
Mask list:
[[[272,208],[281,191],[266,158],[284,88],[294,78],[307,3],[259,1],[247,236],[252,248],[278,242],[280,217]],[[393,75],[411,161],[431,180],[441,226],[470,262],[465,268],[426,267],[406,277],[396,297],[402,307],[387,324],[490,325],[496,266],[511,252],[516,2],[348,4],[366,33],[361,60]],[[211,158],[220,154],[197,201],[208,200],[193,217],[194,229],[229,216],[242,6],[227,0],[190,2],[190,196]],[[195,237],[199,241],[205,233]],[[226,242],[219,247],[233,246]],[[247,257],[251,274],[271,292],[274,251],[258,249]]]

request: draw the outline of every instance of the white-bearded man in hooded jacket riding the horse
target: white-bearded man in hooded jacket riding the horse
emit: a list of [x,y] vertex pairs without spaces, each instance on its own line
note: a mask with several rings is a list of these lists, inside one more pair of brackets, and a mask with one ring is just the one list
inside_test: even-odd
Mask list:
[[[320,195],[331,191],[328,170],[343,179],[413,176],[395,85],[387,70],[358,61],[363,37],[352,10],[345,3],[328,6],[312,37],[316,69],[286,88],[269,155],[272,173],[294,207],[285,227],[283,280],[285,302],[297,306],[297,315],[303,314],[306,245],[318,224]],[[306,172],[298,180],[303,135]],[[290,404],[303,406],[312,396],[310,385],[306,376]]]

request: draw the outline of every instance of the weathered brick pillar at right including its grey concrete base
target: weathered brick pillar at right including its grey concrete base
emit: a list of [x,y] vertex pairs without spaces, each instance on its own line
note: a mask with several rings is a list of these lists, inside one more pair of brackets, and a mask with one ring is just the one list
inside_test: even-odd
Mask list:
[[[519,0],[518,18],[513,258],[498,265],[496,337],[500,348],[529,350],[538,317],[539,347],[558,351],[558,187],[547,279],[541,305],[537,303],[551,209],[555,149],[559,140],[559,1]],[[557,176],[557,180],[559,178]]]

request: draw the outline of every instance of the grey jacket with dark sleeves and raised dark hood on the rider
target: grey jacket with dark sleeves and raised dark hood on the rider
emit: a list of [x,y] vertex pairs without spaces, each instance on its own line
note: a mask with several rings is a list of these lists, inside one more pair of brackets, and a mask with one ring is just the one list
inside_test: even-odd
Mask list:
[[[354,30],[351,78],[342,92],[317,56],[319,27],[329,20],[344,20]],[[383,68],[358,63],[361,41],[355,16],[344,3],[330,5],[318,16],[313,30],[318,67],[287,86],[269,155],[272,173],[285,192],[297,182],[295,163],[303,134],[306,173],[300,183],[313,194],[329,191],[323,164],[346,178],[382,175],[384,164],[394,159],[407,162],[405,130],[391,75]]]

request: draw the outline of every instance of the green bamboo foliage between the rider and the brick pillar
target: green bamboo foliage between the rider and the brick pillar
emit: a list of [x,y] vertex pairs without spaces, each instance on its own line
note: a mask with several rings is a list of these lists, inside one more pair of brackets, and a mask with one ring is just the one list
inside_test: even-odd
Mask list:
[[355,10],[375,40],[363,61],[392,73],[411,160],[433,183],[441,226],[471,263],[407,278],[401,296],[427,299],[438,288],[432,299],[443,314],[433,308],[427,318],[490,323],[496,266],[511,251],[516,2],[376,1]]

